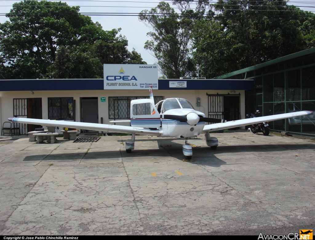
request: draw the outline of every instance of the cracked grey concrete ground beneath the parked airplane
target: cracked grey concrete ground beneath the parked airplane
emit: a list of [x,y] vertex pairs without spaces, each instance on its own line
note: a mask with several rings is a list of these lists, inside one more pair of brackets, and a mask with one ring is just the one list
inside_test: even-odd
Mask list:
[[[315,142],[250,132],[184,140],[0,142],[0,234],[288,234],[313,229]],[[168,146],[171,145],[171,146]]]

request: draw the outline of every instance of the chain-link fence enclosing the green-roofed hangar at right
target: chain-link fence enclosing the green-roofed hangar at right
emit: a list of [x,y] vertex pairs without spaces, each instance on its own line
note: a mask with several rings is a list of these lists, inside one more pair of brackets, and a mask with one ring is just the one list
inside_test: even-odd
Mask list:
[[[310,64],[303,66],[305,63]],[[284,65],[284,70],[275,71],[277,69],[270,67],[269,71],[263,70],[259,76],[259,70],[256,70],[256,77],[253,77],[255,89],[246,91],[246,114],[256,110],[260,110],[263,116],[304,110],[315,112],[314,60],[307,62],[300,59],[281,65]],[[314,136],[315,114],[273,121],[269,126],[274,131]]]

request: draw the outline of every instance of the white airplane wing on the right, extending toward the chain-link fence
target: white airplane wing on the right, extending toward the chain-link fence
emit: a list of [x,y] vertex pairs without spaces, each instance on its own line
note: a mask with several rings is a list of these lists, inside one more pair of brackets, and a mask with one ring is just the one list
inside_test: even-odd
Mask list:
[[257,118],[247,118],[247,119],[229,121],[225,123],[215,123],[215,124],[205,125],[203,128],[203,131],[207,131],[207,132],[217,131],[217,130],[223,130],[223,129],[233,128],[233,127],[241,127],[241,126],[252,125],[256,123],[275,121],[275,120],[299,117],[299,116],[310,115],[310,114],[313,114],[313,112],[301,111],[301,112],[295,112],[295,113],[284,113],[284,114],[277,114],[277,115],[257,117]]

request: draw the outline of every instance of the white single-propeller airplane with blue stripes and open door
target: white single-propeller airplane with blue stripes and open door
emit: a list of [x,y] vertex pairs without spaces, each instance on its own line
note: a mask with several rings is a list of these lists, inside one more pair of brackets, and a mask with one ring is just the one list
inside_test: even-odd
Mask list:
[[[204,113],[195,110],[192,104],[183,98],[168,98],[154,105],[152,88],[150,88],[149,93],[150,99],[136,99],[130,102],[130,120],[110,121],[112,123],[130,122],[130,126],[18,117],[8,120],[44,126],[129,133],[132,134],[131,139],[125,142],[128,153],[135,149],[135,134],[185,139],[183,154],[185,159],[191,159],[192,146],[188,143],[188,138],[196,137],[202,132],[205,132],[206,144],[211,149],[216,149],[219,145],[218,139],[210,137],[209,132],[211,131],[313,114],[312,111],[300,111],[226,122],[222,119],[206,118]],[[205,125],[205,122],[214,124]]]

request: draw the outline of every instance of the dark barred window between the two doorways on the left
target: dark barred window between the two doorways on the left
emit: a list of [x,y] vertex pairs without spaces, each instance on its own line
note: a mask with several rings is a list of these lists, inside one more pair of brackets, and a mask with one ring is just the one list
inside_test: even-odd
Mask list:
[[50,120],[73,120],[73,98],[48,98]]

